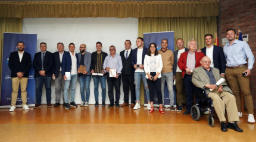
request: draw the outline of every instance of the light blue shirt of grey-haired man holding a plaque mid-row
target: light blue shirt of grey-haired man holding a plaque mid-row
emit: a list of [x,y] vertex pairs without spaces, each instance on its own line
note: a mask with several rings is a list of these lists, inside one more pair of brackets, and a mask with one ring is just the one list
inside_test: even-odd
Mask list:
[[117,73],[121,74],[121,71],[123,69],[123,63],[121,60],[121,56],[118,54],[115,54],[114,57],[109,54],[103,63],[103,69],[105,70],[106,67],[117,69]]

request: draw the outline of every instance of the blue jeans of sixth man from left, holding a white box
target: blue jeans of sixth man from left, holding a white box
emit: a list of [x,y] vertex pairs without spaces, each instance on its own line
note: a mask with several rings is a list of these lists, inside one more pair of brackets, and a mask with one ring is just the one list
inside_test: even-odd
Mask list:
[[94,96],[95,101],[99,101],[99,82],[101,82],[101,96],[102,101],[105,101],[106,99],[106,77],[105,76],[92,76],[93,82],[94,82]]

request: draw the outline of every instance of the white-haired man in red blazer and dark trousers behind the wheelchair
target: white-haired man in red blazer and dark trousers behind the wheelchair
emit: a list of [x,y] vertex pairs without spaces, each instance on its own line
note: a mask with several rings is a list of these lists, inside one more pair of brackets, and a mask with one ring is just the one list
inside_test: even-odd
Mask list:
[[193,103],[193,92],[195,86],[193,85],[192,71],[195,67],[201,66],[200,60],[204,57],[204,53],[197,52],[197,43],[194,40],[189,41],[188,43],[189,51],[185,51],[180,55],[178,61],[178,66],[182,70],[183,82],[186,92],[186,111],[183,112],[183,115],[188,115],[191,113],[191,106]]

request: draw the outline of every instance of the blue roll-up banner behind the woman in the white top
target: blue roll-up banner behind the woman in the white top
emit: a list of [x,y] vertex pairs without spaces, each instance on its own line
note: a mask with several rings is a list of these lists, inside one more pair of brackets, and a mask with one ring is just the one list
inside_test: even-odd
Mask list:
[[[161,41],[163,38],[167,38],[168,40],[168,49],[172,50],[174,53],[174,31],[166,31],[166,32],[157,32],[157,33],[144,33],[144,47],[148,48],[149,44],[155,43],[157,44],[157,50],[161,49]],[[168,89],[167,89],[167,84],[165,83],[164,87],[164,105],[166,107],[170,106],[170,99],[168,95]],[[173,86],[173,91],[175,86]],[[174,105],[176,105],[176,92],[174,92]],[[145,96],[145,104],[148,104],[146,96]],[[154,92],[154,104],[158,104],[158,99],[157,99],[157,92]]]

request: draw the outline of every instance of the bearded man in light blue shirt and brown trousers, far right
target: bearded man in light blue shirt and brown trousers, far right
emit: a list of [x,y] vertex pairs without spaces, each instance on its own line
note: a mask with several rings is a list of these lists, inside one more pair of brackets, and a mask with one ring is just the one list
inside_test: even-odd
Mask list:
[[[249,85],[249,75],[254,64],[254,54],[245,41],[236,40],[236,30],[230,28],[226,34],[229,43],[224,46],[224,55],[226,57],[226,78],[230,88],[236,98],[239,117],[242,117],[240,90],[245,100],[248,110],[248,122],[255,123],[254,106]],[[248,64],[246,59],[248,59]]]

